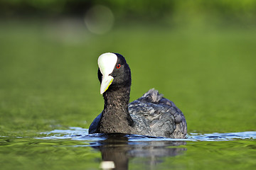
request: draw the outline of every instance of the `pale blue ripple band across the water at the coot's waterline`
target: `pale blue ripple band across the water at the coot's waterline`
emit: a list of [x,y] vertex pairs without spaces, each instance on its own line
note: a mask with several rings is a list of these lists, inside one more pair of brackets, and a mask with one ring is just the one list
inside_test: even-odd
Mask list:
[[[42,132],[46,134],[46,137],[39,137],[38,139],[44,140],[60,140],[60,139],[72,139],[72,140],[90,140],[98,141],[105,140],[107,136],[105,134],[88,134],[88,130],[79,127],[70,127],[68,130],[52,130],[50,132]],[[164,137],[149,137],[144,135],[126,135],[130,142],[142,142],[142,141],[230,141],[230,140],[245,140],[256,139],[256,132],[227,132],[227,133],[190,133],[186,139],[170,139]]]

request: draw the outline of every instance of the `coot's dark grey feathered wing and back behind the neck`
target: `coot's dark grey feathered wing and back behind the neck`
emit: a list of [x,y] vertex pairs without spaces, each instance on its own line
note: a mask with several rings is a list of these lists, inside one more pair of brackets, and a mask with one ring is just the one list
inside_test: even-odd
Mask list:
[[146,125],[154,136],[186,137],[186,120],[183,113],[155,89],[150,89],[141,98],[129,103],[129,113],[146,120]]

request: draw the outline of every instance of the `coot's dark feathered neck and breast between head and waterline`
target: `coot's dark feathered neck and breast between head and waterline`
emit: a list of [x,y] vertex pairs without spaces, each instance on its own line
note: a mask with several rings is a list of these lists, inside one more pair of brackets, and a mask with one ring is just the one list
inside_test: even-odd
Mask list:
[[128,112],[130,86],[111,86],[103,94],[105,105],[98,131],[131,133],[133,120]]

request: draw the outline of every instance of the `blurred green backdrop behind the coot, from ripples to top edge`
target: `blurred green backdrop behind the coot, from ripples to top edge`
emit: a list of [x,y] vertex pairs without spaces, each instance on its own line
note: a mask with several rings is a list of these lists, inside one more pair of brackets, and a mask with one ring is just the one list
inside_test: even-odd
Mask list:
[[188,132],[256,130],[256,1],[0,1],[0,135],[88,128],[97,57],[119,52],[131,101],[151,88]]

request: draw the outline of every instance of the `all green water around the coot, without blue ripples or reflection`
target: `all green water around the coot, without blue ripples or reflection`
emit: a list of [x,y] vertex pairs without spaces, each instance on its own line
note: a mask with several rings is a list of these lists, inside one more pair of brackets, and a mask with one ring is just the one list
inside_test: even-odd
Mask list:
[[[80,22],[1,21],[1,169],[98,169],[83,141],[40,132],[88,128],[102,111],[97,57],[119,52],[132,69],[131,101],[158,89],[188,132],[256,130],[256,28],[115,26],[93,35]],[[80,146],[80,147],[78,147]],[[186,142],[181,154],[131,157],[131,169],[252,169],[255,140]]]

